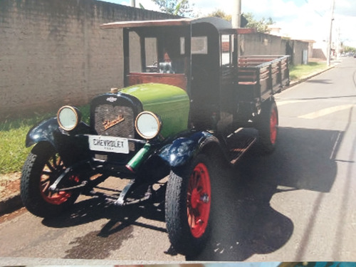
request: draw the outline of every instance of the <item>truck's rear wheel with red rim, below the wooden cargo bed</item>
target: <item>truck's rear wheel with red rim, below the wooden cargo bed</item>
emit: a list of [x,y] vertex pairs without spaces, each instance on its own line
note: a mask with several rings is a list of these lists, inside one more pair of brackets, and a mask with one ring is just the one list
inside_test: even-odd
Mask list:
[[276,149],[278,138],[278,108],[275,100],[263,103],[257,129],[259,150],[262,154],[271,154]]

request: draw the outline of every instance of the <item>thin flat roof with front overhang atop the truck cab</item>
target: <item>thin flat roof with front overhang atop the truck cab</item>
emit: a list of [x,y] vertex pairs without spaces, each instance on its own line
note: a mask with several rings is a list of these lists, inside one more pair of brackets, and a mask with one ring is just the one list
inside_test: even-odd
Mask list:
[[215,17],[200,19],[163,19],[152,21],[116,21],[104,23],[100,28],[142,28],[142,27],[159,27],[159,26],[187,26],[195,23],[209,23],[218,31],[231,30],[231,22]]

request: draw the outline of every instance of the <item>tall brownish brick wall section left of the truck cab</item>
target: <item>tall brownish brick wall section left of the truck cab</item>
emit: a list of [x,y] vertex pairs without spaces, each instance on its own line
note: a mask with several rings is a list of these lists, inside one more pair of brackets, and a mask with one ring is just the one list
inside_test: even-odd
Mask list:
[[122,31],[100,24],[167,18],[95,0],[1,0],[0,120],[121,87]]

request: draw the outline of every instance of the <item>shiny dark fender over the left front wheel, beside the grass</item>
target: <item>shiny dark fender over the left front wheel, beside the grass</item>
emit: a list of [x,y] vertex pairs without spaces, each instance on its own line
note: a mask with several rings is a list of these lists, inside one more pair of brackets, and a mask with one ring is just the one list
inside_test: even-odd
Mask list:
[[26,135],[26,147],[39,142],[48,142],[61,155],[66,166],[89,157],[88,137],[90,127],[80,122],[75,130],[66,132],[62,130],[56,117],[43,120],[31,128]]

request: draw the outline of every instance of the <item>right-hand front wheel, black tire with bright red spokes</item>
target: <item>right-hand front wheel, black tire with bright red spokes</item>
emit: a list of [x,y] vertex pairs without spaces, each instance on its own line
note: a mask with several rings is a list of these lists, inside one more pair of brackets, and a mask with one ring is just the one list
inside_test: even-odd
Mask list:
[[211,231],[212,168],[210,159],[199,154],[189,166],[174,169],[169,174],[165,207],[167,231],[174,250],[185,256],[197,255]]

